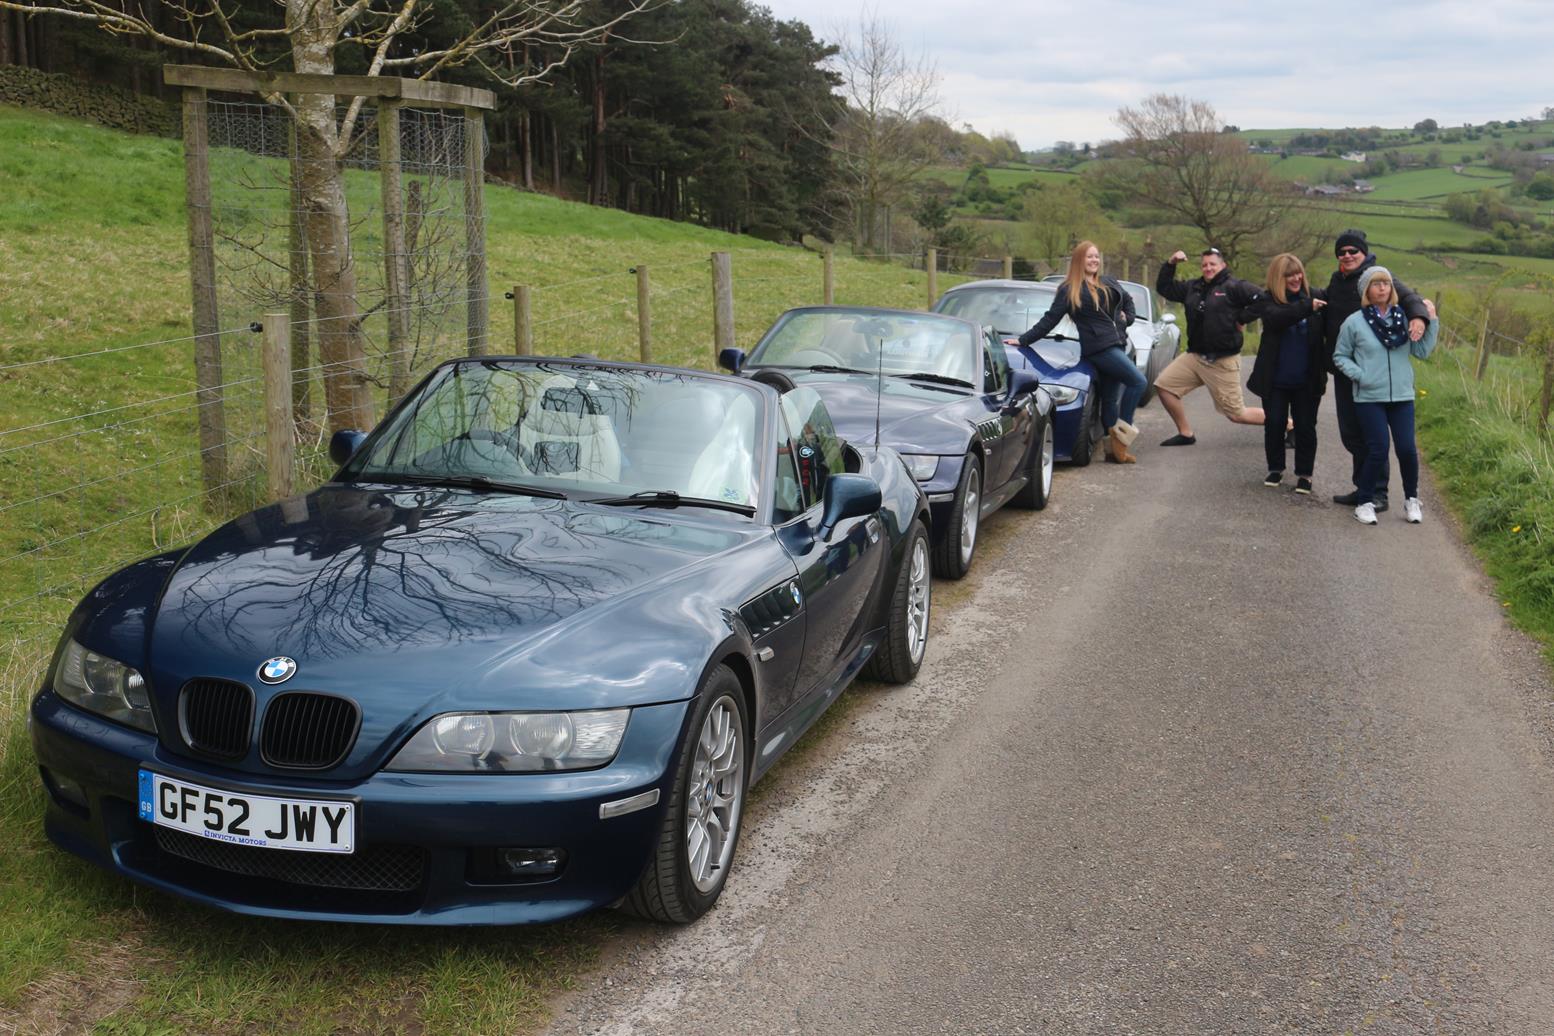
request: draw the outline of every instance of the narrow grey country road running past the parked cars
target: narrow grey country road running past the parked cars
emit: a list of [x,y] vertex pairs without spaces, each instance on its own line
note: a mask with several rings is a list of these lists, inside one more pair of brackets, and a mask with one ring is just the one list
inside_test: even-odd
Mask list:
[[[555,1033],[1554,1033],[1554,691],[1427,485],[1378,528],[1198,446],[1060,471],[918,680],[755,791],[718,909]],[[1394,472],[1395,480],[1395,472]],[[1402,499],[1394,481],[1392,500]]]

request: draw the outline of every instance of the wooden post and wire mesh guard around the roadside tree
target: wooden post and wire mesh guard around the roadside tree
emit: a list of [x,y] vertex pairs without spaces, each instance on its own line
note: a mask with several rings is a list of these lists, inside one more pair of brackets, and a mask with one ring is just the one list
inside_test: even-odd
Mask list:
[[263,421],[260,405],[228,413],[219,387],[236,371],[256,373],[260,357],[247,335],[224,342],[224,325],[291,314],[303,433],[367,429],[426,360],[485,351],[490,90],[190,65],[166,65],[163,76],[183,89],[207,488],[230,481],[225,444]]

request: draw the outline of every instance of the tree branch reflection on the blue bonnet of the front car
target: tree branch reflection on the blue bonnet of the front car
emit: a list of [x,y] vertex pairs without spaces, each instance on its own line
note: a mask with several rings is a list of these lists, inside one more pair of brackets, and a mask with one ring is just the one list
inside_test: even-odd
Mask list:
[[462,646],[479,665],[747,534],[561,500],[325,486],[194,545],[162,596],[152,657],[227,659],[235,679],[274,654],[446,665]]

